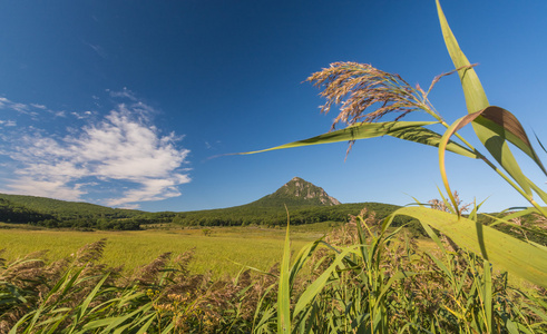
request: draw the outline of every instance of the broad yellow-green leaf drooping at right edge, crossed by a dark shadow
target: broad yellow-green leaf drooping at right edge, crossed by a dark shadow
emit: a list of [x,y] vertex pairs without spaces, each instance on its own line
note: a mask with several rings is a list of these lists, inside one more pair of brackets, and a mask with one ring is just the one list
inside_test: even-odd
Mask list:
[[547,287],[547,252],[468,218],[424,207],[393,213],[411,216],[449,236],[458,246],[481,255],[509,273]]

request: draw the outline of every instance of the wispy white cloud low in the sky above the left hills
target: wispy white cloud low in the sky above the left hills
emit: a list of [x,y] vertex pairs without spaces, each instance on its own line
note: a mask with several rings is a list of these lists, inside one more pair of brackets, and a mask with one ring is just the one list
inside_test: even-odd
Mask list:
[[[180,136],[163,134],[144,115],[152,107],[131,101],[62,136],[29,128],[11,138],[0,154],[9,157],[13,174],[3,179],[0,191],[119,207],[179,196],[178,186],[191,180],[189,150],[178,147]],[[125,187],[114,187],[117,183]]]

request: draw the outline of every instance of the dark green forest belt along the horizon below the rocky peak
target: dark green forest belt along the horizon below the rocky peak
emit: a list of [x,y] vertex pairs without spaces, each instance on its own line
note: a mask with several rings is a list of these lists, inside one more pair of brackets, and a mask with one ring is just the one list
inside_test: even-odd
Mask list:
[[[146,213],[141,210],[109,208],[78,202],[65,202],[45,197],[0,194],[0,223],[26,224],[46,228],[71,228],[78,230],[116,229],[136,230],[146,225],[176,224],[180,227],[211,226],[285,226],[287,212],[279,198],[254,202],[247,205],[197,212]],[[348,222],[350,215],[358,215],[363,208],[374,212],[382,219],[399,206],[382,203],[354,203],[334,206],[301,205],[297,200],[285,200],[291,225],[320,222]],[[270,206],[268,206],[270,205]],[[494,215],[494,214],[492,214]],[[491,215],[490,215],[491,216]],[[479,214],[479,223],[491,224],[494,219]],[[498,224],[495,227],[520,239],[547,245],[545,222],[527,215],[519,222],[520,228]],[[426,236],[420,223],[406,216],[398,216],[392,226],[406,225],[413,235]],[[6,226],[4,226],[6,227]]]

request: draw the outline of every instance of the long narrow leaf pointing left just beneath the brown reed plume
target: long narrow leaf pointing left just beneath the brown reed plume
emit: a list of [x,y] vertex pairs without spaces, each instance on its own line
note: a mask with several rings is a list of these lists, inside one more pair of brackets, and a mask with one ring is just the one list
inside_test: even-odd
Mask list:
[[[436,121],[387,121],[387,122],[361,122],[341,130],[326,132],[316,137],[289,143],[285,145],[241,153],[240,155],[257,154],[275,149],[285,149],[301,146],[331,144],[340,141],[352,141],[358,139],[375,138],[381,136],[392,136],[395,138],[438,147],[441,136],[423,126],[437,124]],[[450,141],[447,145],[447,150],[466,156],[477,158],[477,155],[463,146]]]

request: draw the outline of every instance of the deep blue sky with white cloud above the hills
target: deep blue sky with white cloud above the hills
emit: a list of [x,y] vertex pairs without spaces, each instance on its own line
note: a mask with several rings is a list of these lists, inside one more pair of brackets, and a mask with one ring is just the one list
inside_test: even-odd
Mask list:
[[[547,2],[441,4],[490,104],[547,143]],[[346,143],[226,155],[329,131],[336,109],[321,114],[305,80],[332,62],[422,87],[452,70],[432,0],[2,1],[0,46],[0,193],[187,212],[243,205],[299,176],[342,203],[439,198],[437,149],[393,138],[360,140],[348,157]],[[449,122],[467,114],[456,76],[430,100]],[[481,161],[447,163],[465,203],[526,205]]]

